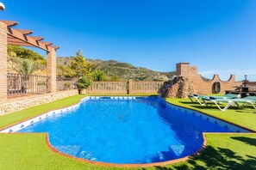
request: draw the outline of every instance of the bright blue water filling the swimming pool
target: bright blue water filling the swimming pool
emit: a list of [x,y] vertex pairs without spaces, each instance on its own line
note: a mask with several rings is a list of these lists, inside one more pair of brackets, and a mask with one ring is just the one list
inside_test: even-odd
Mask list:
[[203,144],[202,132],[229,130],[149,97],[84,100],[20,132],[48,132],[54,148],[87,160],[149,163],[191,155]]

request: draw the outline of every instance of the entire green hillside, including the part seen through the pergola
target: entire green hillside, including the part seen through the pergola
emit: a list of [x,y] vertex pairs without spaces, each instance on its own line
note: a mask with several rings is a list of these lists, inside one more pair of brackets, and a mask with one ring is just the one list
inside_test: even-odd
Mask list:
[[[37,65],[37,70],[34,71],[35,75],[45,76],[47,74],[46,59],[34,52],[33,50],[26,49],[22,46],[8,46],[8,71],[17,73],[14,64],[21,59],[33,60]],[[57,58],[57,74],[62,75],[65,66],[70,64],[72,57],[58,57]],[[103,70],[109,80],[136,80],[136,81],[168,81],[174,75],[174,72],[158,72],[148,70],[143,67],[135,67],[132,64],[121,63],[115,60],[103,61],[101,59],[88,59],[87,62],[94,64],[92,70]],[[61,66],[61,67],[59,67]],[[64,66],[64,67],[63,67]],[[61,69],[62,68],[62,69]]]

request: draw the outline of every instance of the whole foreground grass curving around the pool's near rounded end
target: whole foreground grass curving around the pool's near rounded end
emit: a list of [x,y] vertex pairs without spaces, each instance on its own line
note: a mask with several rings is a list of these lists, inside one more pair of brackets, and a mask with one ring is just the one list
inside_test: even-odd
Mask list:
[[[47,148],[45,134],[0,134],[0,169],[128,169],[75,161]],[[255,169],[256,135],[206,134],[203,153],[189,161],[143,169]],[[129,168],[142,169],[142,168]]]

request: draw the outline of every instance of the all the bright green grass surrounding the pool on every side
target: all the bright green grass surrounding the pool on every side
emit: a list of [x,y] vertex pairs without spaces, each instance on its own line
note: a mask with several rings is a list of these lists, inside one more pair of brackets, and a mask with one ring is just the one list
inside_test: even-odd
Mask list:
[[[84,95],[75,95],[64,100],[34,106],[23,111],[0,116],[0,127],[13,124],[23,118],[33,117],[41,112],[77,103]],[[167,99],[169,102],[213,114],[236,124],[256,129],[255,111],[230,109],[219,112],[208,109],[189,100]],[[254,113],[254,115],[253,115]],[[247,115],[248,118],[247,118]],[[228,118],[235,117],[235,118]],[[240,120],[241,117],[245,117]],[[253,124],[254,120],[254,124]],[[189,161],[167,167],[149,167],[146,169],[255,169],[256,168],[256,134],[207,134],[207,147],[203,153]],[[116,167],[99,167],[78,162],[53,153],[47,148],[45,134],[0,134],[0,169],[118,169]],[[136,169],[136,168],[134,168]]]

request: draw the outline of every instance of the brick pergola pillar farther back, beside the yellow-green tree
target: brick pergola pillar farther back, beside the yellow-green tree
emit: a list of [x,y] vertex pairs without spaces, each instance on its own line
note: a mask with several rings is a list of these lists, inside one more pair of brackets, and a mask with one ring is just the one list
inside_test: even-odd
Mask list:
[[56,50],[51,47],[47,52],[47,76],[51,76],[50,92],[56,92]]

